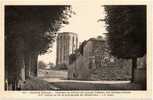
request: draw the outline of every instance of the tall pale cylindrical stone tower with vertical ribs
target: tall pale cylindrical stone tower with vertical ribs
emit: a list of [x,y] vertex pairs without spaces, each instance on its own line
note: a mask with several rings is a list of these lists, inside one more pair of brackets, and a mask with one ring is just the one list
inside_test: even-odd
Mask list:
[[57,36],[57,58],[56,65],[68,65],[69,55],[73,54],[78,47],[78,36],[76,33],[63,32]]

